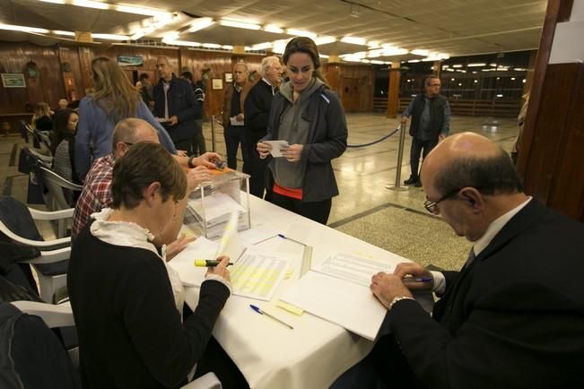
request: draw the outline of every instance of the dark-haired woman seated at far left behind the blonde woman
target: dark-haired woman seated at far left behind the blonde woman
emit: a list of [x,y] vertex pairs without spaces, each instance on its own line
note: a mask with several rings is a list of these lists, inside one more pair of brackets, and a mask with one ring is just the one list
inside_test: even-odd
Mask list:
[[75,131],[79,114],[70,108],[59,109],[55,113],[51,152],[53,153],[53,170],[74,183],[79,184],[79,177],[74,171]]

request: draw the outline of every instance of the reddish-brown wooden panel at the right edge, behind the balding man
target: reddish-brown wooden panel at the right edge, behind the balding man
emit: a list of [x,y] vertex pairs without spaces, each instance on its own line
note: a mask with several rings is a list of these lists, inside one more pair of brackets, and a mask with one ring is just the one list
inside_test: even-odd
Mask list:
[[564,128],[559,134],[560,150],[552,164],[548,204],[584,221],[584,64],[562,65],[557,71],[572,73],[574,82],[564,91],[571,94],[571,100],[567,104]]

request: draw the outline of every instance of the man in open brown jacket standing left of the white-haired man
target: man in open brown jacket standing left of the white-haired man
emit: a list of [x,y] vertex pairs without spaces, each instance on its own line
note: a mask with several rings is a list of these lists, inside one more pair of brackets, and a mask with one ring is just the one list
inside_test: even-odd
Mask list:
[[[248,82],[248,65],[240,62],[233,66],[233,83],[225,87],[223,99],[223,136],[227,149],[227,166],[237,169],[237,150],[240,147],[244,130],[244,102],[251,89]],[[241,150],[243,160],[247,159]]]

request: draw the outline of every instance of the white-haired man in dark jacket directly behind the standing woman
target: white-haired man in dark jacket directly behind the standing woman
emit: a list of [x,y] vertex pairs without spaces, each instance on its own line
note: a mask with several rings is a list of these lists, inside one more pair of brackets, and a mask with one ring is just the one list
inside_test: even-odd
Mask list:
[[[266,56],[262,60],[262,79],[248,93],[245,100],[246,127],[243,135],[244,155],[243,172],[249,176],[249,193],[262,198],[264,196],[266,160],[261,160],[256,151],[256,144],[266,136],[267,118],[272,108],[272,99],[278,91],[282,65],[277,56]],[[269,192],[268,192],[269,193]],[[266,194],[267,195],[267,194]]]

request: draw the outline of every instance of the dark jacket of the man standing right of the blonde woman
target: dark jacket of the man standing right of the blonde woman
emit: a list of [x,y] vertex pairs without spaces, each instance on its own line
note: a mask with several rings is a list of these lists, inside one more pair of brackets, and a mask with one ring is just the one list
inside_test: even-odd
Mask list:
[[[187,80],[177,78],[172,74],[168,91],[169,117],[174,115],[179,119],[176,125],[164,125],[172,142],[193,139],[195,120],[203,117],[201,103],[196,101],[193,87]],[[164,117],[164,84],[162,79],[154,86],[154,115]]]

